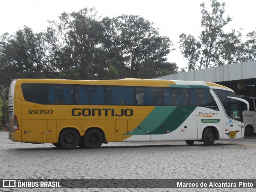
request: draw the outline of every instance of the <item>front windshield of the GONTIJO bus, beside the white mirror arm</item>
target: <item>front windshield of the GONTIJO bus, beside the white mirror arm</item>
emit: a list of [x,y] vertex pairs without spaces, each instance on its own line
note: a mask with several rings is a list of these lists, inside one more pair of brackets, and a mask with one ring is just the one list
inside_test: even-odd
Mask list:
[[237,121],[243,122],[242,111],[240,103],[234,99],[228,97],[237,97],[232,91],[227,91],[223,89],[213,89],[218,98],[220,99],[228,117],[236,119]]

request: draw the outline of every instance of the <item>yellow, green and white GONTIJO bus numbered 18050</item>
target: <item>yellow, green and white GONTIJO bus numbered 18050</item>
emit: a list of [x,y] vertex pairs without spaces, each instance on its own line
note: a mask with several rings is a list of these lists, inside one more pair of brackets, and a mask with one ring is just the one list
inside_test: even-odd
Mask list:
[[[225,103],[213,89],[230,93]],[[247,102],[227,87],[200,81],[14,79],[9,139],[64,149],[115,141],[209,146],[244,137],[240,101]]]

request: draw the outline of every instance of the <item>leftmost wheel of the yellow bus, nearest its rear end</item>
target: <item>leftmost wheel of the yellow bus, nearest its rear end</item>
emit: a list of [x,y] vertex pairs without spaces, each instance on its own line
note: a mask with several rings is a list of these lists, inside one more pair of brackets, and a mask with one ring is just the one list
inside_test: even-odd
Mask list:
[[73,149],[79,143],[79,134],[74,129],[65,129],[60,133],[59,144],[64,149]]

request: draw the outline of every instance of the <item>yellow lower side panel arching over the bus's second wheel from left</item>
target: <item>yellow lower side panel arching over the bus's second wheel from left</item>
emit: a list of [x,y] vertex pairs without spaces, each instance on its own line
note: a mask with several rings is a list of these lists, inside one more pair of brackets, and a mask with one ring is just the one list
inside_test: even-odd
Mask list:
[[115,141],[115,119],[84,119],[83,131],[85,132],[89,128],[100,128],[105,134],[106,142]]

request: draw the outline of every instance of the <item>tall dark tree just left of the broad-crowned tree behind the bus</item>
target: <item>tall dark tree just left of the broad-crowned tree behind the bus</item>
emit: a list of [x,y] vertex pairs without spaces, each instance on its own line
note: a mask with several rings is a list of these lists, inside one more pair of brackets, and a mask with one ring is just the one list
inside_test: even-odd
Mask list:
[[[70,45],[74,50],[75,62],[82,73],[80,77],[83,79],[103,78],[108,65],[99,66],[99,63],[104,65],[107,58],[104,50],[100,49],[104,28],[97,11],[94,8],[86,8],[73,12],[70,16],[72,17],[69,33]],[[105,69],[104,72],[102,68]]]

